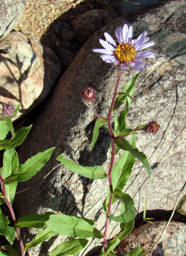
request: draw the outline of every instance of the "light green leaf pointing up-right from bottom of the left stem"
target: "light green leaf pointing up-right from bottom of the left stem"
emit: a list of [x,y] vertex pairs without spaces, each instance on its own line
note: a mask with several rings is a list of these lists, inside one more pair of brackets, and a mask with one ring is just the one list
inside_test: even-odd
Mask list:
[[36,234],[31,242],[25,244],[25,251],[27,249],[37,246],[38,244],[44,242],[48,238],[50,238],[52,236],[57,236],[57,235],[58,235],[58,233],[51,231],[51,229],[49,229],[49,228],[46,228],[43,231],[41,231],[40,233]]

